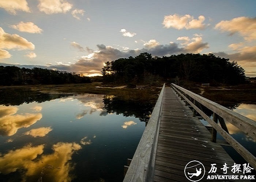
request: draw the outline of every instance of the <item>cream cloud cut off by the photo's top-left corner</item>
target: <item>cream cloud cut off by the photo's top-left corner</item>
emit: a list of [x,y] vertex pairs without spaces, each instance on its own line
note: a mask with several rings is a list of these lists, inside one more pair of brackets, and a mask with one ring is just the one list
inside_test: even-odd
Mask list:
[[13,15],[16,15],[16,11],[30,12],[26,0],[1,0],[0,8],[4,8]]

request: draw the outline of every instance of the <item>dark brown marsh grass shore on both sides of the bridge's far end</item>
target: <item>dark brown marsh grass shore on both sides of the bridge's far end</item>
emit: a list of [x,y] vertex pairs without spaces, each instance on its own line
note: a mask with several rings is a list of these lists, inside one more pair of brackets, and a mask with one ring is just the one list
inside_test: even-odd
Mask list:
[[[161,85],[159,85],[161,87]],[[63,85],[27,85],[27,86],[4,86],[0,89],[31,89],[48,94],[103,94],[121,95],[126,99],[150,99],[157,98],[161,91],[159,87],[144,88],[122,88],[104,87],[101,82],[84,84],[63,84]],[[200,87],[198,84],[190,84],[188,90],[200,94],[203,97],[225,105],[227,103],[249,103],[256,104],[256,83],[248,83],[237,86],[221,87]]]

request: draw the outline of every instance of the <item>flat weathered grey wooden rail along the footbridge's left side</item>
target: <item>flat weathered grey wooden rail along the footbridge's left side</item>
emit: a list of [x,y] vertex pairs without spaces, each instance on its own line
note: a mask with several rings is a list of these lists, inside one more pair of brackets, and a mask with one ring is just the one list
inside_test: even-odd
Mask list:
[[165,84],[159,94],[157,103],[152,111],[151,117],[145,128],[139,145],[133,155],[131,164],[127,170],[124,182],[148,181],[151,178],[154,169],[154,159],[156,154],[156,145],[159,130],[159,118],[162,108],[163,91]]

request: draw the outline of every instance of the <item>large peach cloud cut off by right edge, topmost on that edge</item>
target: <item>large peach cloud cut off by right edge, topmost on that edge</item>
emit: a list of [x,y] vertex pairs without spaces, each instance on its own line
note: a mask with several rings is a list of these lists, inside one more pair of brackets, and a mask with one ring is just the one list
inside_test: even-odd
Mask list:
[[245,40],[256,39],[256,18],[237,17],[232,20],[221,21],[215,25],[215,29],[229,32],[230,35],[239,33]]

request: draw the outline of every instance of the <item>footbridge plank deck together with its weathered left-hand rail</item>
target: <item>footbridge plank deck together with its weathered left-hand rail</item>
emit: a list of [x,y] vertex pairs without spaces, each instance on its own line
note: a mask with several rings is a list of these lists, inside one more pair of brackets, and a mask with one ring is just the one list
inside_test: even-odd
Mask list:
[[[224,165],[227,171],[221,169]],[[221,145],[211,142],[211,133],[191,109],[164,86],[124,182],[246,181],[240,180],[242,164],[239,174],[231,171],[232,166],[234,161]],[[202,173],[193,175],[196,170]],[[217,175],[239,179],[207,179]]]

